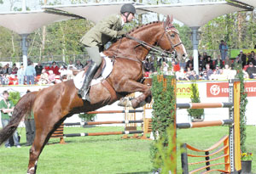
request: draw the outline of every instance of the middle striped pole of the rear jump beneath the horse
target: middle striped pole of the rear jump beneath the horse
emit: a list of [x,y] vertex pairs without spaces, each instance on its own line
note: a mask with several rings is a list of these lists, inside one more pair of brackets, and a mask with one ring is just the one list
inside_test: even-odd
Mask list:
[[86,126],[86,125],[102,125],[102,124],[128,124],[128,123],[142,123],[141,121],[94,121],[94,122],[75,122],[75,123],[64,123],[64,126]]

